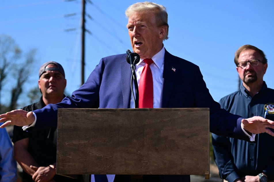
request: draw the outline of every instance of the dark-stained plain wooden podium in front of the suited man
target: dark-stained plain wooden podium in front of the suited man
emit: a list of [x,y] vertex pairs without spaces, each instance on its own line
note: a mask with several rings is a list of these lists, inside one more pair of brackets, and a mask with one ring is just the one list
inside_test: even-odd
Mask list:
[[209,179],[209,109],[58,109],[56,173]]

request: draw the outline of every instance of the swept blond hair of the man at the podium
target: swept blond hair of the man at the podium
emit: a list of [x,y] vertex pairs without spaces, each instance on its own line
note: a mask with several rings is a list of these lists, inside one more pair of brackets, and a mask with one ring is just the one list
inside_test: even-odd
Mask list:
[[168,39],[168,29],[169,25],[167,23],[167,11],[166,7],[163,5],[159,5],[152,2],[142,2],[142,3],[135,3],[133,5],[130,5],[126,9],[126,17],[129,18],[131,15],[133,15],[136,12],[152,12],[154,13],[155,17],[155,23],[157,23],[158,26],[166,26],[167,27],[167,33],[165,34],[164,40]]

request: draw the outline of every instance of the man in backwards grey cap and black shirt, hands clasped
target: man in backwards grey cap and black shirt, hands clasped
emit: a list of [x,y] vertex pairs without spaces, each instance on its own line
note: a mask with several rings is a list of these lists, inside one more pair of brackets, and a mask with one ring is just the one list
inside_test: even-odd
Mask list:
[[[42,93],[39,102],[22,108],[25,111],[41,109],[61,102],[67,85],[63,67],[54,61],[39,69],[38,86]],[[14,126],[14,158],[23,169],[22,181],[79,181],[56,175],[56,127],[40,131],[23,131]]]

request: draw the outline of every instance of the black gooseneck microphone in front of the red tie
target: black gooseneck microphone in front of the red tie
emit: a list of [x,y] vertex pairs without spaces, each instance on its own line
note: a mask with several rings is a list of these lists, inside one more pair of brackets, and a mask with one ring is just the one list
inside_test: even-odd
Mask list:
[[[137,77],[135,74],[135,64],[137,64],[140,61],[140,56],[137,53],[131,53],[131,51],[128,49],[126,50],[127,56],[126,56],[126,61],[130,64],[131,67],[131,93],[133,96],[133,101],[134,101],[134,108],[138,108],[139,104],[139,89],[138,89],[138,83],[137,83]],[[134,91],[133,91],[133,86],[132,83],[134,82],[134,87],[135,87],[135,96],[134,96]]]

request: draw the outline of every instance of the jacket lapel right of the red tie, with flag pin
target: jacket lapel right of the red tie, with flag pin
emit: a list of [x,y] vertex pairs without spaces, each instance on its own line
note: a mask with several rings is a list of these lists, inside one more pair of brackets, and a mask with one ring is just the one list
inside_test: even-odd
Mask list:
[[163,71],[163,83],[162,93],[160,98],[160,107],[168,108],[169,100],[173,90],[173,86],[176,82],[176,62],[172,59],[172,55],[165,50],[164,58],[164,71]]

